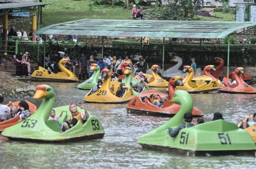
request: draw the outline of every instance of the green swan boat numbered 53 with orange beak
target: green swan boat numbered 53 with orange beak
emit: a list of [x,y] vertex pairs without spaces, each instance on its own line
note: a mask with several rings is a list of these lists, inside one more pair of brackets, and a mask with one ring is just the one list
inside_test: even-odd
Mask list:
[[[48,85],[37,85],[34,99],[43,98],[37,111],[24,121],[4,129],[2,135],[10,140],[32,142],[69,142],[103,138],[105,131],[99,118],[90,116],[84,124],[78,121],[69,130],[62,132],[56,120],[49,120],[55,101],[55,93]],[[71,115],[69,105],[55,108],[55,111],[67,111],[59,118],[63,123]],[[84,111],[78,108],[78,111]]]

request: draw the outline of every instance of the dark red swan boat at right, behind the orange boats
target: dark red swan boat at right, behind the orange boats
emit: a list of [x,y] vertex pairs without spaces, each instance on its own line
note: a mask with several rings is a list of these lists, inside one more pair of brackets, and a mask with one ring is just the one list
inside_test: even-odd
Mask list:
[[[221,58],[214,58],[216,63],[219,63],[218,66],[215,67],[216,71],[210,71],[210,74],[215,77],[216,79],[219,78],[220,75],[227,77],[227,74],[225,74],[224,72],[221,72],[220,70],[223,68],[224,66],[224,60]],[[235,73],[234,72],[229,72],[229,77],[228,78],[234,78]],[[250,84],[251,82],[251,77],[249,76],[248,73],[244,73],[244,74],[240,74],[239,75],[243,81],[245,81],[245,83]]]

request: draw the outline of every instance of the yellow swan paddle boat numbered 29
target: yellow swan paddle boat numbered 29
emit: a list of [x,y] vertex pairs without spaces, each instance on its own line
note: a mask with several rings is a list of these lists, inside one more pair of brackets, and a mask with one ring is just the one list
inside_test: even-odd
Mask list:
[[91,94],[91,91],[84,97],[83,101],[87,102],[98,102],[98,103],[122,103],[129,101],[133,96],[134,92],[132,88],[126,87],[126,91],[123,95],[123,97],[117,97],[115,96],[115,93],[118,91],[118,85],[114,86],[114,90],[110,90],[110,81],[111,81],[111,72],[108,69],[103,69],[101,71],[101,77],[104,77],[104,82],[101,86],[101,88]]

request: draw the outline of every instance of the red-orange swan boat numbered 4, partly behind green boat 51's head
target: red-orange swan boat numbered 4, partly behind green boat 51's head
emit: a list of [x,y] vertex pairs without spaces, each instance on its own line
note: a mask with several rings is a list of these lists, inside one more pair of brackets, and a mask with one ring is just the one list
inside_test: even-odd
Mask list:
[[[181,76],[174,76],[170,79],[168,84],[168,92],[170,95],[170,99],[174,96],[174,92],[176,90],[176,86],[183,85],[182,77]],[[140,93],[139,96],[133,97],[126,109],[128,113],[133,114],[144,114],[144,115],[150,115],[150,116],[163,116],[163,117],[173,117],[181,108],[178,104],[172,104],[170,101],[165,101],[162,106],[164,108],[160,108],[158,106],[155,106],[152,103],[151,98],[147,100],[146,102],[143,102],[141,100],[141,97],[144,96],[150,96],[151,94],[159,94],[161,98],[166,97],[167,95],[164,93],[156,92],[156,91],[147,91],[144,93]],[[197,108],[193,107],[192,114],[195,117],[201,117],[204,114],[201,110],[198,110]]]

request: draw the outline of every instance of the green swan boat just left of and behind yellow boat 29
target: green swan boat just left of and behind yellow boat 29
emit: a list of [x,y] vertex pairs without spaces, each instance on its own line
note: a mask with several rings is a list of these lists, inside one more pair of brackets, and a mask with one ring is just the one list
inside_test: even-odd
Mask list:
[[101,69],[100,69],[99,65],[91,64],[90,70],[94,70],[93,75],[89,79],[87,79],[85,82],[83,82],[82,84],[78,84],[77,85],[78,89],[93,89],[93,87],[96,84],[98,84],[98,78],[101,73]]

